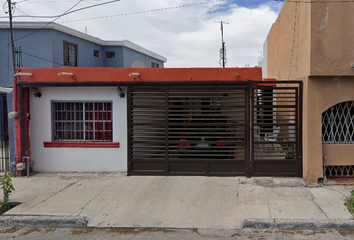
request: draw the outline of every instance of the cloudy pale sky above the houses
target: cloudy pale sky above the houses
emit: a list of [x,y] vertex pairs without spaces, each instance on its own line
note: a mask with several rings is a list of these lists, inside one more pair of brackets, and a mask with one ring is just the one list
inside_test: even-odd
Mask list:
[[[14,22],[53,21],[102,40],[127,39],[167,58],[165,67],[220,67],[220,21],[226,67],[257,66],[283,1],[274,0],[12,0]],[[6,2],[4,10],[7,10]],[[108,4],[103,4],[112,2]],[[92,5],[103,4],[91,8]],[[72,9],[71,9],[72,8]],[[60,18],[57,16],[80,8]],[[5,11],[0,12],[0,21]],[[19,17],[19,16],[31,17]],[[3,17],[3,18],[1,18]]]

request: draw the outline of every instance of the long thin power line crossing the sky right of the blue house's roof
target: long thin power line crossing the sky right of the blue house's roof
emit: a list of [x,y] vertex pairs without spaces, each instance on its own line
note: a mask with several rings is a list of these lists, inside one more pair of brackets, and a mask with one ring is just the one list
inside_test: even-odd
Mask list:
[[214,0],[214,1],[208,1],[208,2],[202,2],[202,3],[192,3],[192,4],[180,5],[180,6],[175,6],[175,7],[151,9],[151,10],[145,10],[145,11],[139,11],[139,12],[130,12],[130,13],[122,13],[122,14],[109,15],[109,16],[101,16],[101,17],[92,17],[92,18],[83,18],[83,19],[76,19],[76,20],[68,20],[68,21],[62,21],[62,22],[60,22],[60,23],[81,22],[81,21],[88,21],[88,20],[95,20],[95,19],[102,19],[102,18],[131,16],[131,15],[137,15],[137,14],[143,14],[143,13],[149,13],[149,12],[166,11],[166,10],[179,9],[179,8],[185,8],[185,7],[193,7],[193,6],[199,6],[199,5],[206,5],[206,4],[210,4],[210,3],[224,2],[224,1],[225,1],[225,0]]

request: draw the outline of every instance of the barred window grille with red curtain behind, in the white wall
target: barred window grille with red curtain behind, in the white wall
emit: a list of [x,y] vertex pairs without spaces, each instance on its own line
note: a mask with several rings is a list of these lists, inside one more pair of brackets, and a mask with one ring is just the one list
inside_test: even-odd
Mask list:
[[111,102],[52,102],[53,141],[112,141]]

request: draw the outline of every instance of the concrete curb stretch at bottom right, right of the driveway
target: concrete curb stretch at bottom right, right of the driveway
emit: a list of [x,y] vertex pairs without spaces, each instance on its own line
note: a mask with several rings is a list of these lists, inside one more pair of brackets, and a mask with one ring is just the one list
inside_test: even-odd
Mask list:
[[243,221],[242,228],[353,231],[354,221],[343,219],[246,219]]

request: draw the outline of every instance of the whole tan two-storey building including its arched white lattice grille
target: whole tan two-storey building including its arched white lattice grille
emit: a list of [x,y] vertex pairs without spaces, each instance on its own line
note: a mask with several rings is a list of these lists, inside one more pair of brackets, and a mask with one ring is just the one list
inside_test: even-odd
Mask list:
[[309,183],[354,176],[353,12],[352,1],[286,1],[265,43],[263,77],[304,83],[302,158]]

